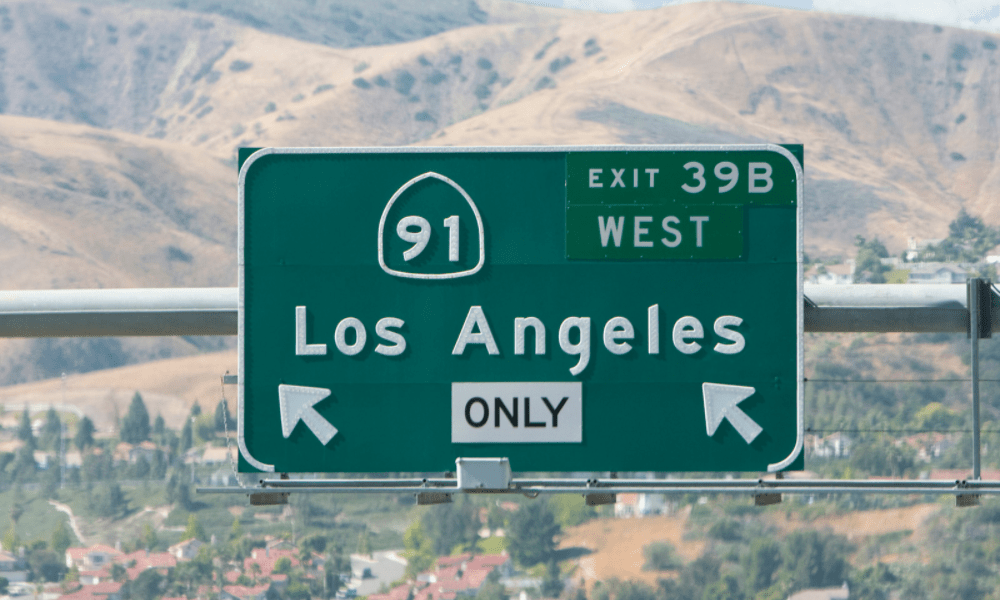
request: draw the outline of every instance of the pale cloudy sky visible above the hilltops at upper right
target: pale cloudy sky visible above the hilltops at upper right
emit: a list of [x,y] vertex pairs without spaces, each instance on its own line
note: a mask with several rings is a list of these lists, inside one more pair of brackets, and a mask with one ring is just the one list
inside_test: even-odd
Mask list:
[[[532,4],[562,6],[601,12],[644,10],[700,0],[522,0]],[[746,0],[743,0],[746,1]],[[1000,33],[998,0],[757,0],[762,4],[798,10],[817,10],[880,19],[917,21],[946,27]]]

